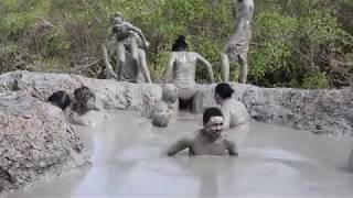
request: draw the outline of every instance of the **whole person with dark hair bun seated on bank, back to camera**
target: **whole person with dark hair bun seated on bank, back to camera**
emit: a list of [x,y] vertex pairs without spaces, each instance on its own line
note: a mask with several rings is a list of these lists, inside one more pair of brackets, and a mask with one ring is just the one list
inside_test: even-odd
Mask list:
[[[180,35],[173,46],[172,53],[169,59],[168,68],[165,72],[164,82],[170,81],[178,88],[178,98],[180,109],[192,109],[193,97],[196,94],[195,74],[197,63],[201,63],[207,67],[211,82],[214,81],[212,65],[200,54],[195,52],[186,52],[188,44],[185,36]],[[195,109],[192,109],[196,111]]]

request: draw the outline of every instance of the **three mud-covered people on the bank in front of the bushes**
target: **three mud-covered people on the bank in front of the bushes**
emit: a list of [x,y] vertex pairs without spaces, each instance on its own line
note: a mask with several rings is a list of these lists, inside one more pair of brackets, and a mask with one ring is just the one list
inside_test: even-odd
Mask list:
[[[229,80],[229,58],[240,65],[239,81],[247,79],[247,53],[252,38],[250,22],[254,13],[253,0],[237,0],[238,10],[235,16],[235,33],[229,37],[221,53],[222,78]],[[117,73],[109,62],[110,54],[117,54]],[[142,31],[125,21],[121,13],[111,18],[111,35],[108,43],[103,45],[106,77],[132,82],[151,82],[150,73],[146,61],[146,50],[149,46]],[[195,82],[196,66],[199,63],[207,68],[210,81],[214,82],[213,69],[210,62],[195,52],[188,52],[184,35],[178,36],[172,45],[172,52],[165,69],[164,84],[172,82],[178,88],[179,105],[196,111],[193,105],[197,92]]]

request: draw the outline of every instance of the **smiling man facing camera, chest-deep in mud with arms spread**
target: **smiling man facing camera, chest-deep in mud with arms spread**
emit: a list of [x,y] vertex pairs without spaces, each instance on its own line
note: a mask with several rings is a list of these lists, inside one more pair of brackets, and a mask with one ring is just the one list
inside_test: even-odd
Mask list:
[[207,108],[203,113],[203,129],[195,138],[183,138],[174,143],[167,152],[175,155],[189,148],[191,155],[228,155],[238,156],[235,143],[222,136],[223,114],[218,108]]

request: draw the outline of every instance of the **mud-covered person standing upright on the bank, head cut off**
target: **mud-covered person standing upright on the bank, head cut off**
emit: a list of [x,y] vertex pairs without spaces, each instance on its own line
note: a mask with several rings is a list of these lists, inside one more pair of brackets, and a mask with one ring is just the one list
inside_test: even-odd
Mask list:
[[229,80],[229,58],[235,59],[240,65],[239,82],[246,84],[247,79],[247,53],[252,40],[250,22],[254,14],[253,0],[237,0],[238,9],[235,18],[235,33],[229,37],[228,43],[221,53],[222,78],[223,81]]

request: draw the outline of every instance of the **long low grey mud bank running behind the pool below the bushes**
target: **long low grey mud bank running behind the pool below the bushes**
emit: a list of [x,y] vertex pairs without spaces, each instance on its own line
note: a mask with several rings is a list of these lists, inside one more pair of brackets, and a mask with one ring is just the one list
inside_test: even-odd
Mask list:
[[[92,79],[77,75],[12,72],[0,76],[1,90],[23,90],[44,101],[52,92],[63,89],[73,92],[85,85],[96,92],[106,109],[125,109],[150,117],[161,98],[161,87],[153,84],[131,84]],[[194,98],[196,112],[216,107],[213,85],[197,85]],[[340,90],[301,90],[259,88],[232,84],[234,98],[243,101],[255,120],[266,123],[311,130],[333,135],[353,134],[353,88]]]

